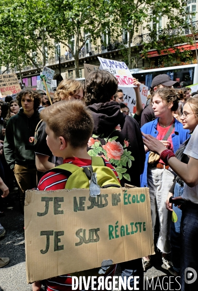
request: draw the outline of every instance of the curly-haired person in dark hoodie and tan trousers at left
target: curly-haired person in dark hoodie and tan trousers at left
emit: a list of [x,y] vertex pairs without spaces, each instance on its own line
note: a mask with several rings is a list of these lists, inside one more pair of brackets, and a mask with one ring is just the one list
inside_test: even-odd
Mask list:
[[21,91],[16,99],[22,108],[8,121],[3,148],[5,159],[15,173],[23,208],[25,191],[36,187],[35,155],[29,138],[34,136],[40,120],[37,108],[41,99],[40,94],[32,90]]

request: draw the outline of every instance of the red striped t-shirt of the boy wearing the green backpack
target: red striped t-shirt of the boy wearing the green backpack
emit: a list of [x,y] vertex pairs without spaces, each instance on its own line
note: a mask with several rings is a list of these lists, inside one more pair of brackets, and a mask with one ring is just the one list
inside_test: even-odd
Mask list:
[[[112,169],[115,173],[115,176],[118,178],[117,172],[115,171],[115,168],[112,166],[112,164],[105,159],[104,161],[106,163],[106,166]],[[88,159],[66,158],[63,161],[63,163],[66,163],[66,162],[73,163],[79,167],[91,166],[91,160],[88,160]],[[65,175],[51,171],[40,179],[37,186],[37,190],[46,191],[46,190],[65,189],[66,181],[67,181],[67,177]],[[115,273],[115,269],[116,269],[116,265],[110,267],[108,272],[104,275],[104,277],[113,276]],[[45,290],[47,291],[72,291],[72,277],[69,274],[49,278],[44,281],[46,285]],[[97,285],[95,287],[97,287]],[[82,288],[83,288],[83,284],[82,284]],[[89,286],[89,290],[91,290],[91,284]]]

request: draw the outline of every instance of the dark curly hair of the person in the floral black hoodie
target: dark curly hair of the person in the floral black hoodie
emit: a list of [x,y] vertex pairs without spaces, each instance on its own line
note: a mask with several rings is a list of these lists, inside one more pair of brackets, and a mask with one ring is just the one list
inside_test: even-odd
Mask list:
[[118,82],[108,71],[91,72],[85,80],[86,104],[105,103],[111,100],[117,91]]

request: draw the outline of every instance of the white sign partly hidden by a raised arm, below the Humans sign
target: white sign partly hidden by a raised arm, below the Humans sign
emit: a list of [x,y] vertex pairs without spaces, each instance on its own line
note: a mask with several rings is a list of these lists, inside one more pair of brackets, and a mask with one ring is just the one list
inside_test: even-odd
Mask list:
[[[129,107],[131,113],[136,112],[136,96],[135,91],[133,88],[128,87],[118,87],[119,89],[122,89],[124,94],[124,103]],[[147,95],[148,95],[148,87],[144,84],[140,85],[140,97],[142,100],[142,107],[143,109],[146,106],[147,103]]]

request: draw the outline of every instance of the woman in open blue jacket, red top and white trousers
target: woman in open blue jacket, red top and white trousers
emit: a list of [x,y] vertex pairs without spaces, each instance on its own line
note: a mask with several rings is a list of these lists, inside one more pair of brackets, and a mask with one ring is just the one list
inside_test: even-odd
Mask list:
[[[152,108],[157,119],[143,125],[142,132],[156,137],[164,146],[176,152],[180,145],[189,137],[189,131],[183,129],[182,124],[173,117],[172,112],[177,111],[177,93],[174,89],[161,88],[151,97]],[[148,187],[150,194],[150,209],[153,226],[158,212],[160,234],[157,242],[158,249],[162,252],[162,260],[168,271],[174,275],[170,253],[170,217],[165,208],[169,189],[173,184],[175,173],[169,166],[159,159],[151,159],[152,153],[145,146],[146,161],[144,172],[141,176],[141,187]],[[150,264],[149,258],[144,258],[146,265]]]

